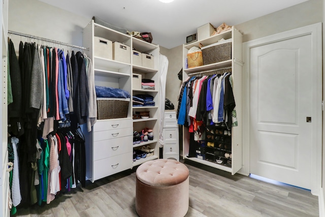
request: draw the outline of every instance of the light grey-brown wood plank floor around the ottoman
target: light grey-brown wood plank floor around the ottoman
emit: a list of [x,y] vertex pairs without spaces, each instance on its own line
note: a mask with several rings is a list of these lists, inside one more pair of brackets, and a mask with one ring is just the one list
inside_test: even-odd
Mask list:
[[[190,174],[186,217],[319,215],[318,197],[309,191],[240,174],[232,176],[188,160],[184,163]],[[57,196],[50,204],[18,207],[14,216],[138,216],[135,171],[88,182],[86,188]]]

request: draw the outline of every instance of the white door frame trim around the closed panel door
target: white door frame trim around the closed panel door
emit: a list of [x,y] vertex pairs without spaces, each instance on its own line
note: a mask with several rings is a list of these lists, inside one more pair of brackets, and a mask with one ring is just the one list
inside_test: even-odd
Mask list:
[[243,43],[243,167],[239,173],[249,175],[249,148],[250,148],[250,49],[264,44],[269,44],[285,39],[296,38],[298,36],[311,35],[312,36],[312,53],[316,57],[312,59],[312,69],[316,71],[316,78],[313,78],[317,85],[316,94],[313,94],[313,101],[316,100],[316,108],[313,108],[313,114],[316,117],[316,130],[312,132],[312,138],[315,140],[316,145],[312,147],[312,183],[311,193],[319,195],[321,189],[322,177],[322,24],[315,23],[304,27],[288,30],[286,32],[278,33],[275,35],[255,39]]

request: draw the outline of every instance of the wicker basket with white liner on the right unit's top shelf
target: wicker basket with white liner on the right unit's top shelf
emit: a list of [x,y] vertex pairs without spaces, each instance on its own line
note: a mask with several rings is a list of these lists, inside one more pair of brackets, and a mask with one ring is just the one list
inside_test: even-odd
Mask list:
[[204,65],[232,59],[232,39],[217,42],[201,48]]

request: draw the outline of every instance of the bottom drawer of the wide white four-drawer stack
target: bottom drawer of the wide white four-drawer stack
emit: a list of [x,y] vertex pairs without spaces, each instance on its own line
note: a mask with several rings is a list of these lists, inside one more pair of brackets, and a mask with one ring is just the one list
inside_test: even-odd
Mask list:
[[93,162],[93,180],[131,169],[133,167],[132,152],[123,153],[111,158]]

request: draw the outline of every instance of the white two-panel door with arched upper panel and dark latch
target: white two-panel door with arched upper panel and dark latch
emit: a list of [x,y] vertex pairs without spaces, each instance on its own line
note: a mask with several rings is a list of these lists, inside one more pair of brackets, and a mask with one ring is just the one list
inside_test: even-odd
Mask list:
[[301,31],[268,37],[249,49],[250,173],[313,189],[321,74],[316,34]]

